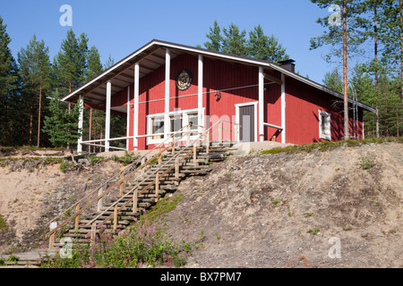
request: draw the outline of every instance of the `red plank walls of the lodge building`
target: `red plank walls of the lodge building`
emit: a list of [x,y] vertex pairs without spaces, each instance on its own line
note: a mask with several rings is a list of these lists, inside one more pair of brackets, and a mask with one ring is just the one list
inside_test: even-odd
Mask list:
[[[191,71],[193,74],[193,84],[185,91],[179,91],[175,84],[176,74],[182,69]],[[219,119],[236,122],[235,105],[259,100],[258,67],[204,57],[203,70],[204,115],[206,116],[206,121],[210,121],[210,125]],[[265,70],[264,72],[278,79],[281,77],[279,71]],[[265,83],[267,82],[269,81],[265,80]],[[197,108],[198,58],[196,55],[178,55],[171,61],[169,87],[170,97],[176,97],[169,101],[170,112],[174,112],[176,109],[189,110]],[[281,126],[281,86],[277,83],[272,83],[267,87],[268,90],[264,94],[264,120]],[[163,114],[165,112],[165,65],[141,78],[139,88],[139,135],[145,135],[147,132],[146,115]],[[218,90],[221,92],[220,100],[215,97]],[[335,100],[340,99],[331,97],[329,94],[298,80],[286,78],[287,143],[305,144],[321,140],[319,139],[319,109],[331,114],[331,139],[338,140],[343,137],[343,114],[340,109],[332,105]],[[126,105],[126,101],[127,89],[116,93],[112,97],[112,106]],[[133,85],[130,87],[130,104],[133,106]],[[342,104],[340,106],[342,109]],[[259,108],[257,112],[259,113]],[[259,114],[256,115],[258,129]],[[362,110],[359,118],[362,120]],[[352,128],[352,119],[350,123]],[[133,136],[133,112],[130,113],[128,128],[129,135]],[[229,126],[225,128],[229,128]],[[359,135],[362,136],[363,125],[361,121],[359,128]],[[259,132],[257,133],[259,134]],[[265,127],[264,133],[266,140],[276,135],[277,141],[281,142],[282,134],[277,130]],[[225,132],[224,139],[229,139],[229,137],[230,133]],[[151,147],[153,146],[146,146],[146,139],[139,139],[139,149]],[[130,148],[133,148],[133,139],[130,140]]]

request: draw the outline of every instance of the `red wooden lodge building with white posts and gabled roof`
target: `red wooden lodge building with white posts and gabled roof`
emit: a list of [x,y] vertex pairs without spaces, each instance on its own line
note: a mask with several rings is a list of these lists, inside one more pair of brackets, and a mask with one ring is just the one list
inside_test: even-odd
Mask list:
[[[184,126],[201,132],[219,121],[222,133],[212,135],[213,141],[342,139],[343,95],[296,74],[293,62],[278,65],[154,39],[63,101],[106,113],[105,139],[81,138],[79,152],[83,145],[120,149],[117,140],[127,150],[150,149]],[[350,137],[364,139],[364,111],[376,110],[349,102]],[[111,113],[127,117],[125,137],[110,138]]]

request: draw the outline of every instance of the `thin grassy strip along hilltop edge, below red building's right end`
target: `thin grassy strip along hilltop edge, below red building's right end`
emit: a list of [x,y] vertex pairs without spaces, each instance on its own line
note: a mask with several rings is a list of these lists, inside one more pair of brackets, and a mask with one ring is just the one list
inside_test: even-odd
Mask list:
[[283,148],[273,148],[269,150],[261,151],[262,155],[274,155],[279,153],[286,153],[286,154],[294,154],[297,152],[306,152],[310,153],[313,150],[319,151],[330,151],[339,147],[359,147],[365,144],[382,144],[382,143],[403,143],[403,138],[394,138],[394,137],[387,137],[387,138],[379,138],[379,139],[361,139],[361,140],[340,140],[340,141],[321,141],[316,143],[304,144],[304,145],[295,145]]

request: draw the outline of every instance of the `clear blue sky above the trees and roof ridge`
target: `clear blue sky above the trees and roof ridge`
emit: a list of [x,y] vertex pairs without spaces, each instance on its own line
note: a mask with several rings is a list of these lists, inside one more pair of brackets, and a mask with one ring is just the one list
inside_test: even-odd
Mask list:
[[[60,25],[63,4],[73,8],[72,27]],[[322,58],[328,47],[310,51],[309,41],[322,35],[315,21],[328,14],[309,0],[14,0],[3,1],[0,7],[15,57],[35,33],[45,41],[53,60],[67,30],[73,28],[77,36],[87,33],[89,46],[97,46],[102,63],[109,55],[116,63],[153,38],[202,46],[217,20],[221,28],[234,22],[246,31],[261,24],[266,34],[273,34],[287,47],[287,54],[296,60],[296,71],[319,83],[336,65]]]

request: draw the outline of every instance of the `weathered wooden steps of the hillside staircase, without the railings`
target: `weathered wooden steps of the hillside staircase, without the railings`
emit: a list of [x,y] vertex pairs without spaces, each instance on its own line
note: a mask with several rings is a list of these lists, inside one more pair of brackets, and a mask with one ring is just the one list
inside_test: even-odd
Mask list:
[[[169,148],[167,151],[171,151],[172,148]],[[176,147],[175,152],[180,153],[181,155],[176,156],[179,159],[184,156],[185,153],[192,151],[193,147]],[[141,179],[137,179],[136,181],[131,181],[124,185],[124,194],[125,195],[116,195],[110,202],[105,204],[100,208],[99,211],[92,212],[86,215],[86,218],[80,219],[78,223],[78,228],[72,228],[68,231],[64,232],[64,238],[72,238],[73,242],[88,242],[91,238],[90,232],[93,230],[93,223],[99,226],[100,223],[107,225],[108,230],[113,229],[114,221],[107,221],[104,223],[104,220],[109,216],[113,216],[115,212],[116,200],[120,199],[120,201],[116,204],[117,208],[121,209],[117,214],[117,223],[116,229],[124,229],[130,223],[135,221],[135,218],[139,218],[143,210],[150,208],[155,205],[159,198],[164,198],[167,193],[175,192],[179,182],[184,180],[186,177],[193,175],[205,175],[209,173],[212,169],[210,165],[211,160],[215,162],[222,161],[227,156],[227,147],[210,147],[210,156],[206,154],[206,147],[198,147],[197,155],[199,158],[197,162],[194,163],[191,158],[187,158],[183,160],[179,164],[179,172],[176,175],[175,169],[167,172],[166,176],[159,179],[158,186],[158,194],[156,193],[157,185],[152,184],[148,189],[141,192],[143,189],[147,188],[153,181],[156,180],[157,171],[159,175],[163,172],[166,172],[168,168],[172,167],[175,163],[167,162],[170,158],[173,158],[173,155],[167,155],[162,158],[160,164],[151,165],[147,172],[141,175]],[[214,159],[210,159],[214,158]],[[133,206],[124,206],[128,201],[133,200],[133,193],[130,193],[130,189],[139,185],[137,188],[139,190],[139,194],[137,197],[137,212],[133,212]],[[94,221],[94,218],[96,220]],[[95,233],[99,233],[99,227],[96,228]],[[53,243],[53,246],[62,246],[58,241]]]

